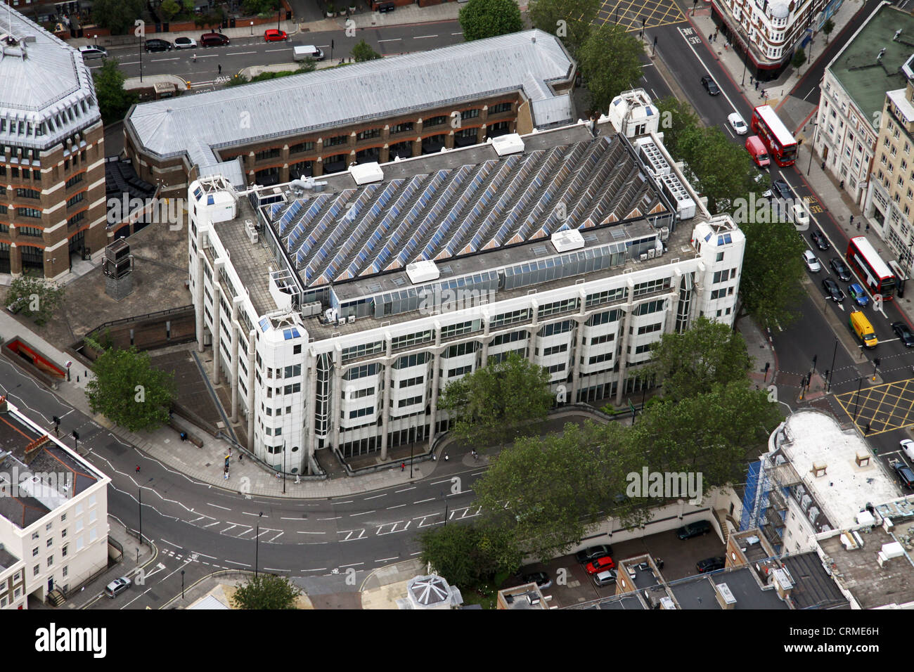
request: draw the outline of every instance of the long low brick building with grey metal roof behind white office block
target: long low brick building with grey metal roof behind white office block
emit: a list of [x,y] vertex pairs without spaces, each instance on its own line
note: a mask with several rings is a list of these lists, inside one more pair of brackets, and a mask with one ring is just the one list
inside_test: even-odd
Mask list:
[[573,122],[574,77],[561,42],[527,30],[137,105],[124,146],[165,196],[215,175],[284,184]]

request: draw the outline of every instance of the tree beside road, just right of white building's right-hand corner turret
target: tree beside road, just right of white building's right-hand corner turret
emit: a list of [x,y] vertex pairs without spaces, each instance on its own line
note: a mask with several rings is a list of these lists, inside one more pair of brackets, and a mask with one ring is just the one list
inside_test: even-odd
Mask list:
[[[770,210],[769,210],[770,211]],[[740,315],[752,315],[762,326],[787,326],[796,319],[802,291],[801,254],[806,250],[797,230],[776,217],[738,217],[739,229],[746,235],[739,295]],[[777,250],[777,254],[772,254]]]

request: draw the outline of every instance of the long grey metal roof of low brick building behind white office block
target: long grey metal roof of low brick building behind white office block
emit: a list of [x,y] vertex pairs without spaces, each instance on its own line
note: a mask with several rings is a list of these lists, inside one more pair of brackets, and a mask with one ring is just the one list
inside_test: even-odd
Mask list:
[[[572,61],[556,37],[540,30],[452,47],[320,69],[221,91],[137,105],[125,120],[146,152],[163,158],[214,160],[214,149],[310,133],[367,119],[523,90],[534,102],[558,99],[538,125],[569,123],[568,95],[550,82],[567,80]],[[537,112],[535,108],[535,113]],[[545,113],[545,112],[544,112]]]

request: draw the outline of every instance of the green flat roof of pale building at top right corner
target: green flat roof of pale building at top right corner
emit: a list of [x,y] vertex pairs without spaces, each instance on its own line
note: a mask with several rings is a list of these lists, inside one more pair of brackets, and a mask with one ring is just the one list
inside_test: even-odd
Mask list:
[[[892,39],[899,28],[899,39]],[[882,48],[886,51],[877,62]],[[873,112],[882,110],[886,91],[904,89],[907,84],[901,66],[912,53],[914,16],[880,3],[829,65],[835,79],[841,82],[874,130],[879,127],[879,117],[874,120]]]

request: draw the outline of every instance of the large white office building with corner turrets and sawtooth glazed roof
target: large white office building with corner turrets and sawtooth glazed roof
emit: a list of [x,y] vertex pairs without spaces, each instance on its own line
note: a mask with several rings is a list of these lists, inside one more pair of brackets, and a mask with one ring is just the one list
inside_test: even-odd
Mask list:
[[198,347],[250,450],[304,474],[325,448],[430,443],[445,386],[512,352],[557,403],[622,402],[662,334],[732,324],[743,234],[648,116],[631,140],[579,123],[319,182],[193,182]]

